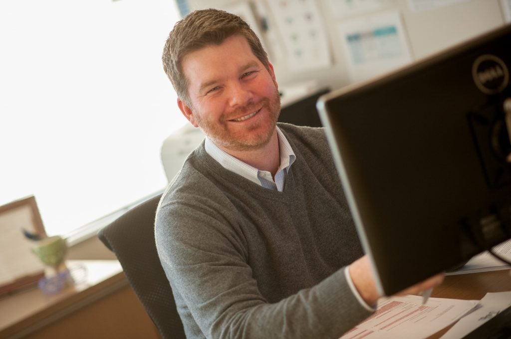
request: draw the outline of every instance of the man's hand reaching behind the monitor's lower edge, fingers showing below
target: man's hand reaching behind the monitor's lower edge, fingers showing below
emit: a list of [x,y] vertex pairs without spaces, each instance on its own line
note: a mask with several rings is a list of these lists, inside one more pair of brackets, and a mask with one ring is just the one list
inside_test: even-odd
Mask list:
[[[382,296],[376,290],[375,277],[367,255],[355,260],[348,269],[350,270],[350,276],[360,297],[362,297],[368,305],[376,305],[378,298]],[[419,294],[422,291],[438,286],[442,281],[444,281],[444,274],[439,273],[399,292],[397,295]]]

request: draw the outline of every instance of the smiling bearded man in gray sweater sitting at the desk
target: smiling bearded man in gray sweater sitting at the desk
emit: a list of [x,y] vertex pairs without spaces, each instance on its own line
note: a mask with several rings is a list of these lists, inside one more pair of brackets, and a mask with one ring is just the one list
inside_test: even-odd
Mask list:
[[371,315],[380,296],[323,129],[276,124],[257,36],[238,16],[196,11],[162,59],[179,109],[206,135],[155,223],[187,337],[338,338]]

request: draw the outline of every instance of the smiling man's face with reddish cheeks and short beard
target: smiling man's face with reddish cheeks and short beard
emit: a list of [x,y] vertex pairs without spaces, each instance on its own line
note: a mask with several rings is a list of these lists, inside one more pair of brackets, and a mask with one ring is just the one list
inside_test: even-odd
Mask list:
[[224,150],[253,150],[272,136],[281,104],[273,66],[264,67],[246,39],[235,35],[182,60],[191,107],[183,114]]

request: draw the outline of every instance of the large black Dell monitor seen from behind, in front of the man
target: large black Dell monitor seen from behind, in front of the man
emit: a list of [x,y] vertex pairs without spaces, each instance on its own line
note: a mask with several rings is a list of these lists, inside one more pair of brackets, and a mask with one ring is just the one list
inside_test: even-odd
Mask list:
[[511,25],[318,100],[380,293],[511,237],[509,69]]

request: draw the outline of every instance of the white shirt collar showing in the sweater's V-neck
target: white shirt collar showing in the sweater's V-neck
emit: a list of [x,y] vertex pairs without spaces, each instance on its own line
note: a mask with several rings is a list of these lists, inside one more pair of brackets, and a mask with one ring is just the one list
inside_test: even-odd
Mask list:
[[281,129],[276,127],[278,137],[278,148],[280,151],[281,164],[278,166],[275,178],[273,179],[269,171],[261,171],[253,166],[250,166],[239,159],[236,159],[229,153],[220,149],[209,138],[206,137],[204,147],[206,152],[211,155],[223,168],[231,172],[235,172],[244,178],[261,185],[270,190],[284,191],[284,184],[286,182],[289,168],[296,160],[296,155],[291,148],[288,140],[282,133]]

